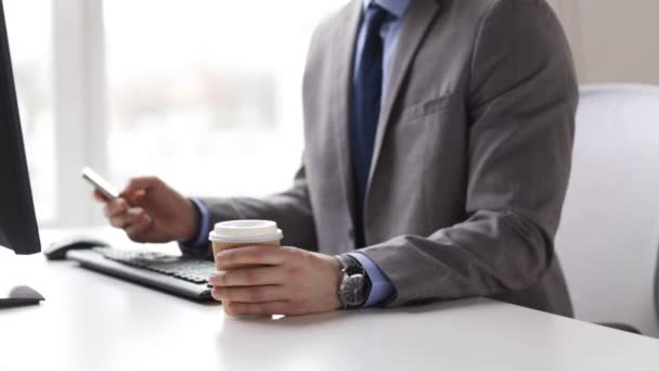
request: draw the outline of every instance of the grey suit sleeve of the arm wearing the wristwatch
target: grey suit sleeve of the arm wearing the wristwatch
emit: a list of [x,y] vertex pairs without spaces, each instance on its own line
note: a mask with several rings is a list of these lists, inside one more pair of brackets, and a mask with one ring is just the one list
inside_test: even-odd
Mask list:
[[524,290],[554,258],[578,101],[569,47],[544,1],[499,1],[478,27],[466,94],[468,217],[362,251],[396,289],[386,306]]

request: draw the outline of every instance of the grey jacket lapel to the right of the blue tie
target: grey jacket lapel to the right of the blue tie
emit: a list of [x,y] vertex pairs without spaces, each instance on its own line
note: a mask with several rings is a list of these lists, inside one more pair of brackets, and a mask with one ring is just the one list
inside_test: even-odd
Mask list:
[[429,26],[432,24],[432,20],[435,20],[438,10],[439,4],[436,0],[413,0],[410,2],[410,9],[408,9],[408,14],[403,18],[389,72],[389,85],[385,89],[385,99],[383,101],[377,132],[375,135],[375,148],[373,150],[373,161],[369,175],[366,197],[373,180],[375,167],[377,166],[377,159],[383,146],[387,126],[389,125],[393,103],[400,93],[401,85],[408,74],[410,64],[412,63],[414,55],[416,55],[416,51]]

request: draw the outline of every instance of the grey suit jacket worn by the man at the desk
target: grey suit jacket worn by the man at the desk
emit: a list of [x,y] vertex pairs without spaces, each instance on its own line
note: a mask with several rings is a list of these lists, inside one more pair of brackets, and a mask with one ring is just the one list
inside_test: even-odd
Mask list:
[[[288,245],[354,248],[348,105],[360,14],[353,0],[313,35],[293,188],[203,200],[214,222],[273,219]],[[412,1],[386,91],[361,251],[396,289],[385,306],[493,296],[570,316],[553,241],[578,91],[545,1]]]

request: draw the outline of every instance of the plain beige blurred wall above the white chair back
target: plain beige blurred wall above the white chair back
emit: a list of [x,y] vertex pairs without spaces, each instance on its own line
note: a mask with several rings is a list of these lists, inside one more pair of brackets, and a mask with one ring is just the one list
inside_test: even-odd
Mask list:
[[659,84],[659,0],[547,0],[581,84]]

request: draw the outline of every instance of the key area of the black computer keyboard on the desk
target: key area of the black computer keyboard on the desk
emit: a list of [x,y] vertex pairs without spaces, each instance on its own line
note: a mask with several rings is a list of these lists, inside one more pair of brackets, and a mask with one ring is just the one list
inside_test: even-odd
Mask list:
[[94,247],[92,251],[111,260],[148,269],[194,283],[208,283],[208,276],[215,270],[212,261],[157,252],[127,251],[113,247]]

